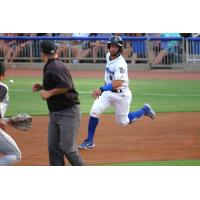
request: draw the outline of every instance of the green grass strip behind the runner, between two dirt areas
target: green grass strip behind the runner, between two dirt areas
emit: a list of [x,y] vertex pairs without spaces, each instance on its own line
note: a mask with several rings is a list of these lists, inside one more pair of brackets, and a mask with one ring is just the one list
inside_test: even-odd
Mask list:
[[[14,80],[14,84],[9,82]],[[102,79],[74,79],[80,93],[81,111],[88,114],[93,103],[91,91],[103,84]],[[27,112],[31,115],[47,115],[46,102],[39,93],[32,93],[31,86],[40,78],[9,77],[5,83],[10,88],[10,106],[7,115]],[[130,80],[133,101],[130,110],[136,110],[145,102],[156,112],[199,112],[200,80]],[[106,113],[112,113],[108,109]]]

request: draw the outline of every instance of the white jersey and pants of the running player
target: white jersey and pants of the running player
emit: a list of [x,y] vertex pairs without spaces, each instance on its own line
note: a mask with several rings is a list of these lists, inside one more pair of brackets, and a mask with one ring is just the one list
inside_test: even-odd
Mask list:
[[109,57],[110,53],[106,55],[105,84],[110,84],[113,80],[122,80],[123,83],[115,92],[104,91],[94,101],[90,116],[99,118],[107,108],[113,106],[116,122],[122,126],[126,126],[129,124],[128,113],[132,100],[132,93],[128,87],[128,66],[122,55],[114,60],[110,60]]

